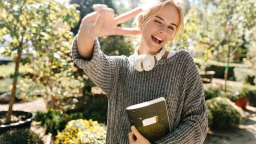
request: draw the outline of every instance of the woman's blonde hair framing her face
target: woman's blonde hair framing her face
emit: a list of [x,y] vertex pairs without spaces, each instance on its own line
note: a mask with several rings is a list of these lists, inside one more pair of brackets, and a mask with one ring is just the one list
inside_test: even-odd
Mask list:
[[183,23],[183,10],[180,2],[176,2],[175,0],[155,0],[154,3],[150,5],[146,5],[144,8],[142,7],[142,12],[139,13],[134,23],[138,25],[140,29],[153,17],[155,17],[166,4],[170,4],[174,6],[179,14],[179,22],[176,27],[176,31],[173,35],[173,38],[179,35],[183,31],[184,23]]

